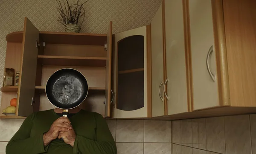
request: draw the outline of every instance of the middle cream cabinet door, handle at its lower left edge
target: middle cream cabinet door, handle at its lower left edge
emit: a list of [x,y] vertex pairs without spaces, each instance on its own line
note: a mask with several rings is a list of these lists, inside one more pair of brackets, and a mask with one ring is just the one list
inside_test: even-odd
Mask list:
[[187,95],[187,62],[181,0],[164,0],[167,115],[189,111]]

